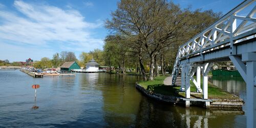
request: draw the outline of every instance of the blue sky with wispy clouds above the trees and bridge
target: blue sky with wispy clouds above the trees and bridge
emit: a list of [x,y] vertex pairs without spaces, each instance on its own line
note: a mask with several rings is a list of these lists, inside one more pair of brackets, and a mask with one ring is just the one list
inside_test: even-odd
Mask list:
[[[104,21],[117,8],[110,1],[6,1],[0,0],[0,60],[52,58],[56,52],[102,49]],[[212,9],[223,14],[243,0],[175,0],[181,8]]]

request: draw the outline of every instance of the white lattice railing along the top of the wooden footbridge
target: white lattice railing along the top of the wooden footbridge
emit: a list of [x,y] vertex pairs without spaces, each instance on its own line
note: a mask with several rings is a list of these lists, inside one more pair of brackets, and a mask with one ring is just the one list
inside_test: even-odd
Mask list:
[[[244,35],[255,37],[256,18],[253,17],[256,12],[255,4],[255,0],[244,1],[222,16],[214,24],[180,46],[172,72],[173,80],[175,80],[175,74],[179,70],[178,64],[180,58],[186,58],[190,55],[202,55],[204,52],[216,50],[225,46],[230,46],[230,54],[234,54],[232,53],[233,44],[245,39]],[[246,7],[252,8],[249,8],[248,10]],[[246,16],[241,16],[239,13],[244,15],[245,12],[243,11],[245,10],[247,12]],[[175,81],[173,81],[173,84],[174,82]]]

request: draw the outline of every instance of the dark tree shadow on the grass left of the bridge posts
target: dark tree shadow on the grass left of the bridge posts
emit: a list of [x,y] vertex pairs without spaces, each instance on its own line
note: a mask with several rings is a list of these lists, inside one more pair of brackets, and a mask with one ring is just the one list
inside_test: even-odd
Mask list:
[[175,88],[175,86],[165,86],[164,84],[155,84],[151,86],[147,86],[147,89],[150,92],[161,94],[161,95],[167,95],[167,96],[177,96],[177,97],[183,97],[182,95],[179,95],[179,90]]

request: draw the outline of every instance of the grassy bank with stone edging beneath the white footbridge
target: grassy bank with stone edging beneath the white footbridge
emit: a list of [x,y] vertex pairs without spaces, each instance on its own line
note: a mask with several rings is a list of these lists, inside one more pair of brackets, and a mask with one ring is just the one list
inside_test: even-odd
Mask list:
[[[138,82],[144,89],[157,93],[162,95],[168,95],[168,96],[179,96],[179,97],[185,97],[185,92],[180,92],[180,86],[164,86],[163,81],[167,76],[159,76],[156,77],[153,81],[140,81]],[[201,88],[203,89],[201,79]],[[190,81],[190,91],[196,92],[196,86],[195,84]],[[190,94],[191,98],[203,98],[202,93],[197,94]],[[237,99],[237,97],[234,97],[232,94],[222,90],[221,88],[218,88],[214,86],[214,84],[208,82],[208,98],[209,99]]]

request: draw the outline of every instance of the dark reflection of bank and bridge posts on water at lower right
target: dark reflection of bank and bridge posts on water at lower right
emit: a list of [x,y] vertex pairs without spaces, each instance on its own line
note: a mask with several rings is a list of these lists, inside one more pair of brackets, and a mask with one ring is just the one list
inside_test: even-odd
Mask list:
[[245,123],[235,121],[242,114],[243,111],[183,108],[141,99],[136,127],[245,127]]

